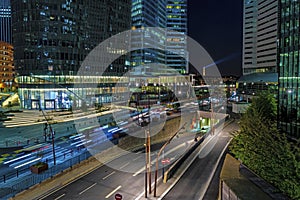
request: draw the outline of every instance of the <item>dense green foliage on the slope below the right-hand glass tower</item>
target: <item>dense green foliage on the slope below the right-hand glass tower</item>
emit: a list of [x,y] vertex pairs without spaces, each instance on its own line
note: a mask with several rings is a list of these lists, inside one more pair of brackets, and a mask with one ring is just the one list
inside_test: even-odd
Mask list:
[[235,157],[293,199],[300,199],[300,151],[277,130],[276,101],[269,93],[253,99],[229,146]]

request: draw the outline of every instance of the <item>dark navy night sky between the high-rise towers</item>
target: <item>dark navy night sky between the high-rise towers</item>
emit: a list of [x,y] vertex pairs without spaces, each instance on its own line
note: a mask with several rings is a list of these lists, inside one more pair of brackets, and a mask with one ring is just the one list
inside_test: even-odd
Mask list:
[[210,54],[222,75],[241,75],[241,0],[188,0],[188,35]]

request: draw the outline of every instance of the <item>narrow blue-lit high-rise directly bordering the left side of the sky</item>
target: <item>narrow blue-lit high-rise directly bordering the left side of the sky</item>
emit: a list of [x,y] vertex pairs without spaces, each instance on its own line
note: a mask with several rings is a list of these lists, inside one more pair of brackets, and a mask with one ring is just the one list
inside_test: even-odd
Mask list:
[[185,74],[188,72],[187,0],[168,0],[166,64]]

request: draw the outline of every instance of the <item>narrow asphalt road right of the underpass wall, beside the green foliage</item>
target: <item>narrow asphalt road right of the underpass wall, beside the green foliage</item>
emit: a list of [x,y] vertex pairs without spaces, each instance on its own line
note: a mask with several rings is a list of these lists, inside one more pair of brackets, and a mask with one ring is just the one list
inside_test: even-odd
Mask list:
[[[210,180],[217,167],[217,161],[229,142],[228,133],[237,129],[236,123],[230,124],[213,137],[209,143],[203,144],[204,148],[199,151],[192,165],[163,199],[216,199],[218,183],[212,181],[213,185],[209,187]],[[210,190],[207,192],[208,188]]]

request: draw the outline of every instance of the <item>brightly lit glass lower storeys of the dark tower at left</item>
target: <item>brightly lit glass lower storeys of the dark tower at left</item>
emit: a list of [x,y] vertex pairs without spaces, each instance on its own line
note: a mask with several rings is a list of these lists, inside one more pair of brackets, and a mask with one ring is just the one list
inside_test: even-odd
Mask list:
[[[122,76],[19,76],[20,100],[25,109],[79,107],[112,101],[112,94],[127,92],[128,77]],[[99,87],[95,86],[95,83]],[[118,87],[115,84],[118,83]],[[73,87],[73,85],[80,87]],[[96,95],[95,95],[96,94]],[[83,99],[83,97],[85,97]],[[120,98],[123,96],[120,95]],[[119,99],[124,100],[124,99]]]

